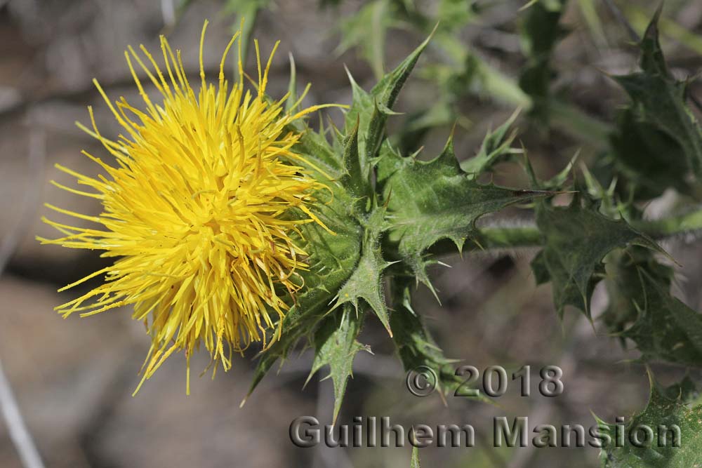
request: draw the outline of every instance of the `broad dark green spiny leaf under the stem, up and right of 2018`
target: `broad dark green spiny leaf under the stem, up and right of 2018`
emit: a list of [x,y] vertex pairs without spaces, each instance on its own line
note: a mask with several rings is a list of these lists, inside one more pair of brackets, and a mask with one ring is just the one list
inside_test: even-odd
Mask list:
[[604,276],[602,260],[611,250],[630,244],[660,250],[627,222],[583,206],[581,196],[575,196],[567,207],[540,203],[536,225],[544,247],[531,267],[538,284],[553,283],[553,302],[559,316],[563,316],[567,305],[572,305],[590,317],[590,296]]

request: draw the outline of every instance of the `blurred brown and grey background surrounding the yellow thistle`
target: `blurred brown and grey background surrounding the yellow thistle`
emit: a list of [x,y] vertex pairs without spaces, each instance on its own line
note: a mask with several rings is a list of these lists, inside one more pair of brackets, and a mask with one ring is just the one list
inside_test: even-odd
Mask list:
[[[318,378],[326,375],[325,370],[303,389],[310,352],[293,356],[278,375],[267,375],[241,409],[255,349],[246,359],[237,359],[230,373],[218,373],[213,381],[195,379],[190,396],[185,396],[185,359],[175,356],[132,396],[149,339],[143,326],[131,320],[131,311],[116,309],[89,319],[62,319],[53,312],[53,307],[81,293],[80,288],[57,293],[58,288],[103,265],[97,252],[39,246],[34,240],[37,235],[56,235],[40,221],[48,214],[42,206],[46,201],[80,213],[100,213],[98,203],[49,184],[52,179],[68,180],[55,163],[86,175],[98,173],[80,151],[100,155],[102,149],[74,125],[89,122],[87,105],[95,108],[102,133],[119,132],[91,79],[98,78],[111,98],[124,95],[137,102],[124,50],[129,44],[145,44],[158,51],[159,34],[166,34],[172,46],[183,51],[185,67],[195,76],[199,33],[206,18],[211,25],[205,68],[209,76],[216,76],[220,54],[239,24],[238,8],[251,8],[252,3],[257,2],[0,0],[0,359],[48,467],[409,467],[409,446],[293,446],[289,424],[295,417],[314,415],[322,424],[331,422],[331,380]],[[349,103],[344,66],[368,89],[383,67],[394,67],[423,38],[423,32],[396,21],[389,7],[375,11],[380,17],[366,12],[367,18],[355,19],[365,11],[366,2],[360,0],[324,5],[318,0],[279,0],[263,8],[265,3],[258,2],[262,8],[253,35],[264,55],[275,40],[282,41],[269,86],[274,97],[282,96],[288,86],[288,53],[295,57],[300,87],[312,83],[307,103]],[[456,74],[445,65],[451,57],[430,46],[399,100],[399,110],[413,119],[414,126],[403,117],[390,125],[409,137],[425,132],[422,145],[429,157],[437,154],[458,122],[456,152],[461,159],[468,158],[489,128],[524,106],[515,83],[525,64],[517,30],[519,8],[525,2],[409,3],[428,17],[438,15],[437,8],[445,4],[455,6],[453,15],[471,15],[468,25],[456,33],[470,62],[458,64],[463,74],[456,81]],[[617,3],[638,32],[656,4]],[[702,3],[668,1],[664,18],[663,46],[673,72],[693,76],[702,66]],[[600,151],[599,140],[588,135],[601,131],[599,122],[612,121],[617,106],[625,101],[606,74],[630,71],[637,57],[626,28],[603,2],[569,2],[562,24],[569,35],[555,49],[552,65],[557,72],[555,86],[567,97],[574,112],[569,115],[574,117],[559,119],[551,128],[525,118],[517,122],[518,138],[543,177],[560,171],[578,149],[584,161]],[[360,27],[367,28],[368,37],[359,36]],[[382,51],[369,48],[373,34],[381,31],[386,34]],[[454,72],[455,68],[454,64]],[[701,90],[698,85],[691,88],[702,99]],[[340,120],[338,112],[330,114]],[[409,137],[403,140],[406,149],[418,149],[411,147]],[[523,175],[509,167],[498,168],[495,177],[496,182],[515,187],[526,185]],[[663,196],[649,209],[665,210],[670,203]],[[522,215],[516,210],[500,215],[510,216]],[[673,239],[665,247],[684,264],[677,295],[699,310],[702,244]],[[492,447],[496,416],[528,416],[532,425],[589,427],[595,423],[592,413],[613,421],[640,410],[647,400],[644,367],[625,362],[637,356],[635,352],[623,351],[597,321],[593,326],[582,314],[571,312],[562,323],[557,321],[550,286],[534,285],[529,268],[533,255],[519,251],[449,258],[451,269],[434,272],[442,305],[420,288],[414,308],[428,317],[445,354],[463,363],[479,369],[562,367],[562,396],[545,399],[533,392],[535,396],[525,399],[516,385],[510,385],[499,406],[453,397],[444,404],[437,394],[417,398],[406,390],[404,370],[385,331],[369,321],[361,341],[375,355],[357,357],[339,422],[350,424],[354,416],[376,415],[390,416],[405,427],[420,423],[475,427],[475,448],[420,450],[426,467],[598,466],[595,448]],[[597,317],[606,305],[606,294],[598,288],[593,315]],[[204,368],[207,362],[202,354],[194,356],[193,369]],[[656,369],[656,375],[663,382],[680,377],[669,367]],[[0,423],[0,467],[20,466],[7,427]]]

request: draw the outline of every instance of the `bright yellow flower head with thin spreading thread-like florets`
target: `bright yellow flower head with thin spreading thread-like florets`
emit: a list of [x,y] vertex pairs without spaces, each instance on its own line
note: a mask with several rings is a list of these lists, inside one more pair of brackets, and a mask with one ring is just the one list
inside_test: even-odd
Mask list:
[[[307,204],[314,201],[314,190],[324,187],[300,166],[303,156],[293,152],[300,135],[289,129],[289,123],[326,106],[290,114],[283,109],[287,96],[267,100],[275,48],[262,73],[258,42],[255,91],[244,90],[241,41],[240,78],[230,89],[224,77],[225,58],[240,32],[223,53],[217,86],[206,83],[202,59],[206,27],[207,22],[200,39],[197,94],[188,82],[180,51],[174,54],[163,36],[165,67],[157,65],[144,46],[143,57],[131,47],[124,54],[145,109],[124,98],[113,105],[94,81],[126,135],[105,138],[90,107],[93,130],[81,128],[102,143],[116,164],[83,152],[107,177],[91,178],[57,166],[92,190],[53,184],[99,199],[102,214],[86,216],[47,206],[102,226],[84,229],[44,218],[65,236],[39,239],[69,248],[100,249],[102,257],[118,258],[114,265],[62,288],[105,275],[100,286],[56,309],[64,316],[73,312],[88,316],[133,305],[134,319],[144,321],[152,337],[142,383],[173,352],[185,350],[188,392],[190,354],[202,343],[214,369],[221,362],[228,370],[232,352],[261,340],[265,346],[267,330],[274,329],[272,340],[279,335],[280,319],[289,309],[281,296],[286,291],[293,295],[303,286],[296,270],[306,267],[307,254],[292,234],[305,222],[322,225]],[[147,95],[132,60],[157,88],[160,102]],[[291,208],[306,216],[286,215]]]

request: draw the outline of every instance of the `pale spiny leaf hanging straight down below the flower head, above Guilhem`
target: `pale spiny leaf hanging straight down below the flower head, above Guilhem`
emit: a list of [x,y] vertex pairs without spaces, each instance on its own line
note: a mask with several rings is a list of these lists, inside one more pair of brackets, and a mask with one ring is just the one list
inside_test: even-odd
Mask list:
[[362,349],[370,352],[369,347],[356,340],[363,326],[364,316],[363,309],[353,309],[350,305],[345,305],[343,314],[329,314],[314,333],[314,361],[307,381],[309,382],[319,369],[329,366],[329,375],[324,378],[331,377],[334,387],[332,424],[336,422],[346,384],[349,377],[352,377],[356,353]]

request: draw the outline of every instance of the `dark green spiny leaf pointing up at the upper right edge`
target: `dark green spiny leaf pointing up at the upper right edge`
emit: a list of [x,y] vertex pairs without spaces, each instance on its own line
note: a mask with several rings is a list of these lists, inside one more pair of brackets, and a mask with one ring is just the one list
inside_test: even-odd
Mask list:
[[[702,175],[702,128],[687,107],[687,82],[677,81],[665,64],[658,41],[659,16],[660,10],[651,20],[640,44],[641,71],[614,76],[614,79],[633,100],[632,112],[637,121],[654,126],[673,138],[682,148],[687,166],[699,177]],[[677,167],[677,163],[673,166]],[[657,177],[652,171],[646,171],[644,175]],[[670,171],[663,175],[669,176]]]

